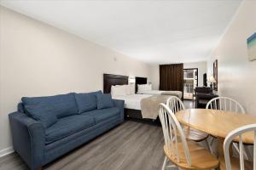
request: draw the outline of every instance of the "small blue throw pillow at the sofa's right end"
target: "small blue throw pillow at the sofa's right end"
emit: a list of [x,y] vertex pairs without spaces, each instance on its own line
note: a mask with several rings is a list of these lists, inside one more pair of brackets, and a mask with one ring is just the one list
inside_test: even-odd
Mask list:
[[97,94],[97,109],[106,109],[113,107],[111,94]]

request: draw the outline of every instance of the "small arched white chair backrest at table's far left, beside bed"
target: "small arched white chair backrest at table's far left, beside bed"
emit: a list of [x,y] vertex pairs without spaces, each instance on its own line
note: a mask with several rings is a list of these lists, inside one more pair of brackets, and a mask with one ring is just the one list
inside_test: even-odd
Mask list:
[[183,101],[176,96],[171,96],[166,101],[167,107],[175,114],[177,111],[185,110],[185,105]]

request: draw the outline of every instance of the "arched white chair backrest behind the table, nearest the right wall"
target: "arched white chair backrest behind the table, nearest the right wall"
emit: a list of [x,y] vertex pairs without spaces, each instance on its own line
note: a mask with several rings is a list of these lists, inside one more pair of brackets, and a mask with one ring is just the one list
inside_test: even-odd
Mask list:
[[213,98],[207,103],[207,109],[233,111],[236,113],[245,114],[245,110],[235,99],[227,97]]

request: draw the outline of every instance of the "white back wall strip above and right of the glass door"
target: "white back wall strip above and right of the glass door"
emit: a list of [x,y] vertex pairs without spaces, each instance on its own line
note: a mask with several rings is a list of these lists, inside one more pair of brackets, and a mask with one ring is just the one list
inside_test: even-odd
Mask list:
[[184,63],[184,69],[198,68],[198,86],[202,87],[204,77],[203,75],[207,73],[207,61],[195,62],[195,63]]

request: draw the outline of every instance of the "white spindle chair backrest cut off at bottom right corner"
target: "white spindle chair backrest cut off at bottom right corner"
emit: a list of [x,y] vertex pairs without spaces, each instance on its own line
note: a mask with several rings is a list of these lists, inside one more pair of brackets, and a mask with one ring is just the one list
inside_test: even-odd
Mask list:
[[230,144],[233,139],[236,137],[239,138],[239,154],[240,154],[240,169],[244,169],[244,158],[243,158],[243,146],[242,146],[242,133],[247,133],[249,131],[253,131],[254,140],[253,140],[253,170],[256,170],[256,124],[250,124],[243,127],[238,127],[235,130],[231,131],[228,136],[224,140],[224,157],[226,161],[227,170],[231,170],[230,163]]

